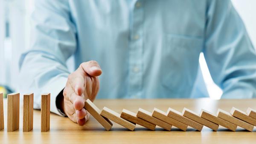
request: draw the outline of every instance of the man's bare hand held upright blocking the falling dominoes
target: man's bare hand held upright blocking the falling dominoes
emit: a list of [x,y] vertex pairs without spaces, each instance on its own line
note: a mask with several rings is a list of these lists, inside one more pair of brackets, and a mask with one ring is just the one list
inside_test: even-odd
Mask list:
[[99,91],[98,76],[102,70],[96,61],[81,63],[75,72],[68,76],[66,87],[63,90],[64,113],[79,125],[84,125],[89,115],[84,109],[87,98],[94,101]]

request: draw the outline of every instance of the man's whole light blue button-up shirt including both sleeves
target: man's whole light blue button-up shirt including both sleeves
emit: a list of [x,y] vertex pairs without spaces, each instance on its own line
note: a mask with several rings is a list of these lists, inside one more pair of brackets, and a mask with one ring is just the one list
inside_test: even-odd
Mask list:
[[207,97],[200,52],[222,98],[256,96],[256,52],[230,0],[36,0],[31,37],[20,91],[35,107],[51,92],[52,112],[71,55],[100,64],[96,98]]

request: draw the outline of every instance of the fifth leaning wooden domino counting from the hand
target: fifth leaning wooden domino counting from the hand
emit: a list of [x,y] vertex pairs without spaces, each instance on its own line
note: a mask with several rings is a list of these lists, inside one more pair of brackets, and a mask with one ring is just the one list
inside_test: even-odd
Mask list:
[[167,116],[166,112],[163,112],[162,110],[157,109],[157,108],[154,108],[152,116],[155,118],[158,118],[170,125],[173,125],[183,131],[186,131],[186,129],[188,127],[186,124],[183,124],[180,121],[176,121],[175,119],[170,118],[169,116]]

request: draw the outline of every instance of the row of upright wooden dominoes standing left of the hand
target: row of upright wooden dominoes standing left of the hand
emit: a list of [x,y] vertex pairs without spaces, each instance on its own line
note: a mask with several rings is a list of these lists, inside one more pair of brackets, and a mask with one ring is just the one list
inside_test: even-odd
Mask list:
[[[23,132],[33,129],[34,94],[25,94],[23,98]],[[20,93],[7,95],[7,131],[13,132],[20,127]],[[0,93],[0,130],[4,129],[3,93]],[[50,129],[50,93],[41,95],[41,132]]]

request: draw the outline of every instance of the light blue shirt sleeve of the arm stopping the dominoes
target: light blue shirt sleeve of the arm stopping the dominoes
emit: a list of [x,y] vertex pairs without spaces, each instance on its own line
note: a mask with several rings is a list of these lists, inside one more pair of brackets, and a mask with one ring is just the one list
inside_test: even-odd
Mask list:
[[20,58],[20,92],[34,92],[34,108],[41,108],[41,94],[51,93],[50,110],[69,75],[66,60],[76,51],[76,29],[66,0],[36,0],[32,13],[31,46]]

